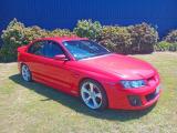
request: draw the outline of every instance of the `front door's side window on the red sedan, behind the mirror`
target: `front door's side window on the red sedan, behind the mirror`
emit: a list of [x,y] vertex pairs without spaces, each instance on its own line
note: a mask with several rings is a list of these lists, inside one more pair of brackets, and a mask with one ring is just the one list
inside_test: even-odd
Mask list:
[[48,43],[44,44],[43,52],[46,58],[54,58],[58,54],[64,54],[62,48],[53,41],[48,41]]

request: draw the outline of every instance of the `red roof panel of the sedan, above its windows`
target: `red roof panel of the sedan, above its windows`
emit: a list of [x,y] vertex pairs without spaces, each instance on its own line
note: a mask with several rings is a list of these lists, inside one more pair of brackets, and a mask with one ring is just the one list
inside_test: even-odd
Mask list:
[[56,42],[63,42],[63,41],[73,41],[73,40],[88,40],[87,38],[80,38],[75,35],[71,37],[52,37],[52,38],[41,38],[38,40],[53,40]]

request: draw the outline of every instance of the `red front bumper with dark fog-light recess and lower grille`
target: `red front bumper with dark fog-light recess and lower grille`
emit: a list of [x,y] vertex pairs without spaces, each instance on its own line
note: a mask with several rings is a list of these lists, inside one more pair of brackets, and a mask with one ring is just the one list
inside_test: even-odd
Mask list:
[[162,93],[158,84],[135,90],[110,86],[107,91],[108,108],[122,110],[143,110],[155,104]]

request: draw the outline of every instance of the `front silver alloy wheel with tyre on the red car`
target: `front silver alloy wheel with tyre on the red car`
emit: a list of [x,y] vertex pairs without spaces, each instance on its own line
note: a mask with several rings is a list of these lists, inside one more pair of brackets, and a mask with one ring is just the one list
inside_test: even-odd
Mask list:
[[84,80],[80,85],[81,99],[92,110],[107,108],[107,96],[103,86],[94,80]]

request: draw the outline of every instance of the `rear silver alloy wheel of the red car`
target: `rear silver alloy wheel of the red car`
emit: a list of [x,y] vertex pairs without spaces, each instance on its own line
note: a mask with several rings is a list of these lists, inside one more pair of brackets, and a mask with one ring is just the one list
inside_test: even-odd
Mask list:
[[32,75],[31,75],[30,69],[25,64],[22,64],[22,66],[21,66],[21,75],[24,81],[27,81],[27,82],[32,81]]

